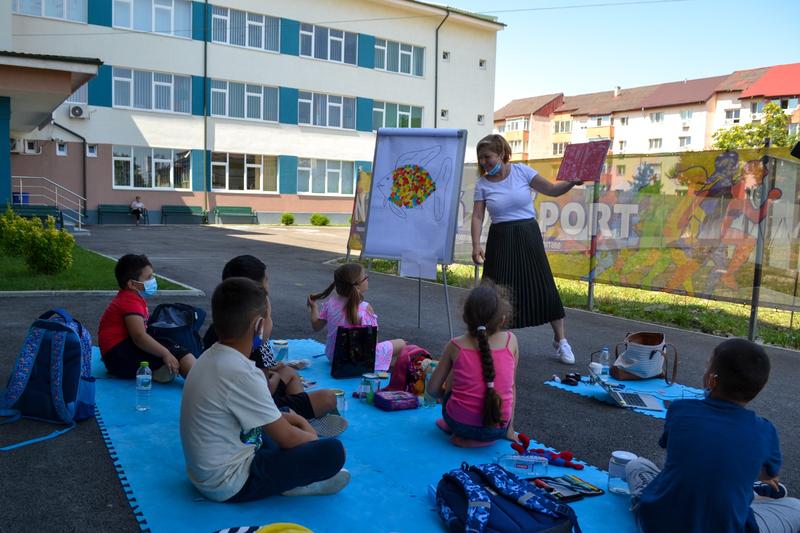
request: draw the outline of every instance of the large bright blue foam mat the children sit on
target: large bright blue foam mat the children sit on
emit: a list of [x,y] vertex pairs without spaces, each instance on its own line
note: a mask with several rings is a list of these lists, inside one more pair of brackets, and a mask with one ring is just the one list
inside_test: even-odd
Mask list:
[[[312,358],[323,349],[313,340],[290,341],[293,359]],[[348,395],[345,416],[350,427],[341,440],[347,450],[345,466],[352,473],[350,484],[333,496],[277,496],[246,504],[220,504],[204,499],[186,477],[179,434],[182,380],[154,384],[150,411],[137,412],[134,382],[102,379],[107,376],[95,348],[98,423],[142,529],[210,532],[296,522],[318,533],[443,531],[428,486],[435,486],[444,472],[462,461],[486,463],[512,453],[507,441],[486,448],[456,448],[434,425],[440,409],[385,413],[350,396],[357,379],[334,380],[326,359],[312,361],[311,368],[301,371],[303,376],[317,380],[318,387],[341,388]],[[538,443],[531,446],[542,447]],[[548,475],[567,473],[599,487],[606,485],[606,473],[593,466],[582,471],[550,467]],[[625,497],[605,494],[571,505],[584,531],[636,531]]]

